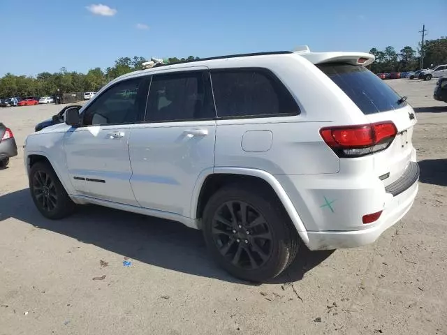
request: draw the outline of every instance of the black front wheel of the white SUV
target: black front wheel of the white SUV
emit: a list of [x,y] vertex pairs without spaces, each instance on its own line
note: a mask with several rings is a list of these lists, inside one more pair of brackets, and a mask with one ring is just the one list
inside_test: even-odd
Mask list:
[[38,211],[45,218],[57,220],[71,215],[75,210],[75,203],[68,197],[49,163],[38,162],[32,166],[29,191]]

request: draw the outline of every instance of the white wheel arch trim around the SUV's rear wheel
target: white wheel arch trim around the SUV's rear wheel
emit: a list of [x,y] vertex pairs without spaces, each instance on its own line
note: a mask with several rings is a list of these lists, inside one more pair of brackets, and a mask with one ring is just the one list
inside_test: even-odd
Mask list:
[[269,172],[250,168],[214,168],[207,169],[200,174],[191,198],[191,218],[198,223],[198,227],[200,227],[200,219],[206,200],[210,195],[220,187],[227,185],[228,182],[237,183],[240,181],[252,181],[270,188],[284,206],[302,241],[305,244],[309,242],[305,225],[279,181]]

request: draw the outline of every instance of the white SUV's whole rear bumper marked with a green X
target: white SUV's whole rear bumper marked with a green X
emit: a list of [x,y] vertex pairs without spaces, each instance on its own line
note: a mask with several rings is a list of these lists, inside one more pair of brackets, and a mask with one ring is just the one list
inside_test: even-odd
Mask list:
[[[349,161],[349,166],[352,163],[355,162]],[[338,174],[275,176],[300,216],[309,249],[331,250],[370,244],[409,211],[418,191],[416,150],[413,149],[404,174],[386,188],[368,166],[359,165],[363,173],[354,175],[349,171],[343,174],[340,169]],[[381,211],[378,220],[368,224],[362,222],[362,216],[378,211]]]

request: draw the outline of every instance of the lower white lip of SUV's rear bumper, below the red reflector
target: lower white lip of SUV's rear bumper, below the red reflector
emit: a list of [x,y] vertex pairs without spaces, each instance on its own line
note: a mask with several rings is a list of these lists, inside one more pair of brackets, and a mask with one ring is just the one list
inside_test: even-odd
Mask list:
[[418,181],[386,205],[379,221],[371,228],[354,231],[307,232],[310,250],[355,248],[371,244],[388,228],[395,225],[410,210],[418,193]]

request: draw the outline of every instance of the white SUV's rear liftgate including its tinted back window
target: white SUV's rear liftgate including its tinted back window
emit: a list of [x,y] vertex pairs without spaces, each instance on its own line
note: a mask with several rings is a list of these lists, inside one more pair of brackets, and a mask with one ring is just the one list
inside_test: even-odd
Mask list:
[[[393,121],[397,136],[384,151],[374,154],[374,170],[388,186],[399,179],[413,154],[413,126],[416,114],[388,84],[363,66],[351,64],[319,64],[335,84],[356,103],[371,123]],[[388,175],[389,173],[389,175]],[[387,177],[388,176],[388,177]]]

